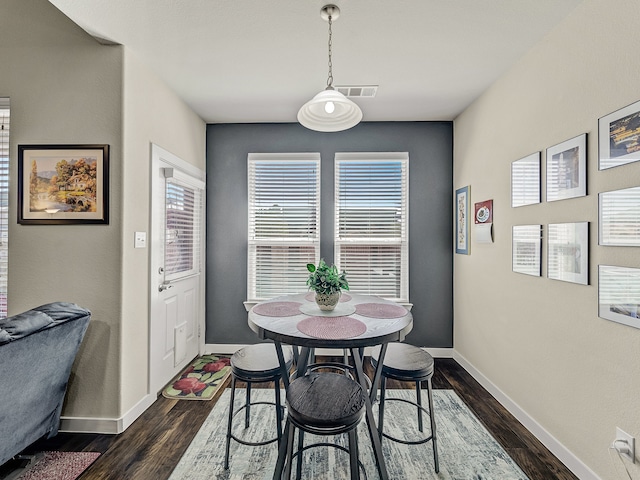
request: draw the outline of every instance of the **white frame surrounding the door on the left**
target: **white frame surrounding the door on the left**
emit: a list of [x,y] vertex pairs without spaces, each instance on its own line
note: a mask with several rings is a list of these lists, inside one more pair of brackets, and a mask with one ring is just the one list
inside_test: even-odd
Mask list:
[[[160,252],[164,248],[163,243],[161,243],[161,235],[159,231],[162,229],[162,225],[164,225],[164,208],[158,208],[157,202],[159,198],[164,198],[164,192],[160,192],[160,182],[156,179],[155,176],[159,175],[159,169],[161,167],[161,163],[169,164],[172,168],[175,168],[178,172],[182,174],[186,174],[187,176],[199,181],[203,184],[206,182],[206,174],[204,171],[199,168],[191,165],[190,163],[185,162],[181,158],[176,155],[168,152],[162,147],[151,144],[151,225],[150,225],[150,235],[149,235],[149,378],[148,378],[148,391],[150,394],[155,395],[162,385],[159,385],[157,380],[154,381],[154,366],[153,366],[153,346],[151,342],[154,338],[152,335],[152,318],[155,318],[157,315],[158,308],[158,270],[163,266],[162,259],[160,258]],[[206,185],[206,184],[205,184]],[[163,183],[164,186],[164,183]],[[204,194],[204,192],[203,192]],[[203,198],[204,200],[204,198]],[[202,354],[204,352],[205,345],[205,277],[206,277],[206,261],[205,261],[205,232],[206,228],[205,219],[206,219],[206,201],[202,202],[202,218],[200,229],[201,238],[201,251],[200,251],[200,295],[199,295],[199,305],[198,305],[198,313],[197,313],[197,329],[198,329],[198,353]],[[164,206],[164,205],[163,205]],[[191,358],[185,360],[185,365]],[[184,366],[176,367],[179,373],[179,370],[184,368]],[[157,373],[155,374],[157,375]],[[171,380],[171,378],[166,379],[164,383]],[[163,384],[164,384],[163,383]]]

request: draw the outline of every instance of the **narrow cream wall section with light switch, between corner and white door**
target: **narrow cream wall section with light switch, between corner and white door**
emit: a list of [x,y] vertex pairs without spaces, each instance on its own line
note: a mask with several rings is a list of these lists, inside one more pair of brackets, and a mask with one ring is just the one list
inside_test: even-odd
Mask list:
[[131,51],[124,58],[121,378],[127,412],[147,393],[149,249],[133,248],[133,238],[136,231],[150,234],[151,144],[205,170],[206,125]]

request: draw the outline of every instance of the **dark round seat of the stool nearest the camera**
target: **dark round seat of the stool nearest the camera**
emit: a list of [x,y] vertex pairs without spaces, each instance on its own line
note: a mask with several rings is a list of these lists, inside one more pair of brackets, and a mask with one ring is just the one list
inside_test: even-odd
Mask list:
[[310,373],[287,390],[289,415],[310,427],[333,429],[358,423],[364,404],[362,387],[337,373]]

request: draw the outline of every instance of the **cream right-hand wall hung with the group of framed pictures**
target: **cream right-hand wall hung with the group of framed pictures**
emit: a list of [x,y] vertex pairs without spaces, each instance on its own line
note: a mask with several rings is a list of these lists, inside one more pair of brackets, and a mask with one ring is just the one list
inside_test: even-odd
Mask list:
[[[585,0],[455,121],[454,188],[471,185],[472,206],[493,199],[495,228],[495,243],[455,255],[455,349],[585,478],[626,478],[615,427],[640,436],[640,330],[597,313],[598,265],[640,267],[640,248],[598,246],[598,192],[640,185],[640,162],[597,161],[598,118],[640,100],[639,13],[637,0]],[[588,195],[511,208],[511,162],[585,132]],[[546,278],[546,248],[542,277],[511,271],[513,225],[574,221],[590,222],[590,285]]]

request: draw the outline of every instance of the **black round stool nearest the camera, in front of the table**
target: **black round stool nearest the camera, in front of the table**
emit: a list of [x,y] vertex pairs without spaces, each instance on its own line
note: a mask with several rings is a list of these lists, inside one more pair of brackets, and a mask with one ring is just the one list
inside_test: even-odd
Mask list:
[[[360,478],[358,438],[356,428],[365,413],[366,393],[362,387],[345,375],[338,373],[309,373],[295,379],[287,390],[286,458],[282,448],[276,466],[276,475],[284,464],[284,478],[291,477],[293,459],[298,457],[296,478],[301,477],[302,453],[313,447],[333,447],[349,453],[351,479]],[[298,450],[293,451],[295,430],[298,429]],[[347,433],[349,448],[334,443],[314,443],[304,446],[304,433],[314,435],[338,435]],[[366,478],[366,471],[365,478]]]

